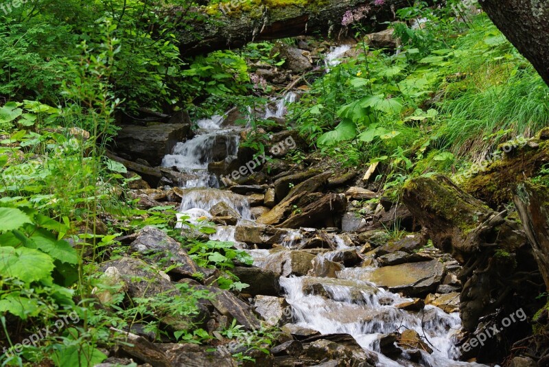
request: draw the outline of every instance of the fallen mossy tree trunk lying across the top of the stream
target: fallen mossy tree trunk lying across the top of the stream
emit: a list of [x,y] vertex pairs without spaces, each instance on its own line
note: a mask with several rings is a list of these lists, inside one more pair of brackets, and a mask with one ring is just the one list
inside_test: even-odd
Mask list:
[[[296,1],[297,2],[297,1]],[[375,27],[395,18],[395,10],[409,6],[406,0],[386,0],[383,5],[364,0],[309,0],[309,5],[289,3],[272,5],[261,0],[260,5],[244,4],[242,0],[220,3],[217,8],[195,11],[200,16],[192,32],[180,34],[182,56],[194,56],[218,49],[242,47],[246,43],[301,35],[323,34],[339,36],[347,33],[342,17],[347,10],[369,8],[360,20],[366,27]],[[235,6],[231,5],[235,4]],[[320,5],[318,5],[320,4]]]

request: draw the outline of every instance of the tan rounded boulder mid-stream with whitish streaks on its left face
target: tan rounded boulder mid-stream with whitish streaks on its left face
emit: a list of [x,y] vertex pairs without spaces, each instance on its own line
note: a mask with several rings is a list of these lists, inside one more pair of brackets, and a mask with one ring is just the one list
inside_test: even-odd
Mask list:
[[279,276],[304,276],[313,268],[315,256],[303,251],[282,251],[270,254],[263,268]]

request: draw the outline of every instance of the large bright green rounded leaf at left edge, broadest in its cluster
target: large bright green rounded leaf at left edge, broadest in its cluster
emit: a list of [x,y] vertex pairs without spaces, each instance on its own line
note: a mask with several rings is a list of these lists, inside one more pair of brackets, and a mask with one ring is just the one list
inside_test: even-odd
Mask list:
[[51,278],[54,261],[48,254],[33,248],[0,247],[0,274],[31,283]]

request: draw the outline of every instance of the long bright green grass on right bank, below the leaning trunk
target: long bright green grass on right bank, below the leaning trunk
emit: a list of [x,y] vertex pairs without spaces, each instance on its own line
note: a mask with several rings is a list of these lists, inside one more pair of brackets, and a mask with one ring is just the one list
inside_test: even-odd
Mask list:
[[476,161],[501,141],[548,126],[548,86],[493,26],[471,30],[457,52],[452,69],[465,78],[443,85],[439,104],[449,150]]

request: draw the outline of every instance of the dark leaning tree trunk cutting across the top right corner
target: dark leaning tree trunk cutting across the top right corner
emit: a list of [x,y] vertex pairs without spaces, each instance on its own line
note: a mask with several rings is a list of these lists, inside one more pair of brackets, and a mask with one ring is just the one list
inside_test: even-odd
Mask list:
[[549,84],[549,1],[480,0],[495,25]]

